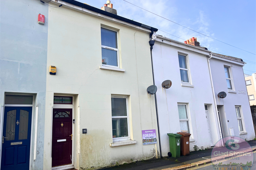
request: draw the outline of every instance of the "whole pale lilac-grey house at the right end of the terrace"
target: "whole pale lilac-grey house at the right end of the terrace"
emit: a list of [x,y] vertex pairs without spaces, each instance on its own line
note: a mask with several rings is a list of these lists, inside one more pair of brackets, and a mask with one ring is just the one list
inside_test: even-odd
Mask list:
[[[244,64],[242,59],[236,57],[211,54],[210,67],[221,135],[252,140],[255,133],[244,81]],[[225,92],[227,96],[219,98],[220,92]]]

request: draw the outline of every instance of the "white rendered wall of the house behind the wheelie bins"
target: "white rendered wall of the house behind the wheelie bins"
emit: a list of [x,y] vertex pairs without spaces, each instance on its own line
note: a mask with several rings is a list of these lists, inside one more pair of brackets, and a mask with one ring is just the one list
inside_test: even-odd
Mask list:
[[[161,43],[162,40],[171,44],[171,46]],[[201,52],[200,49],[161,38],[157,38],[155,41],[152,56],[155,84],[158,87],[156,97],[162,155],[167,156],[169,152],[167,133],[180,132],[178,103],[188,104],[190,132],[192,134],[190,150],[194,151],[194,145],[197,145],[200,149],[201,146],[204,148],[210,147],[205,104],[208,105],[214,144],[218,142],[219,135],[216,127],[218,122],[216,121],[216,112],[214,111],[214,98],[206,57],[209,55],[209,52]],[[189,72],[194,87],[181,86],[178,53],[186,54],[189,59]],[[162,88],[162,82],[167,79],[172,81],[172,86],[169,89],[164,89]]]

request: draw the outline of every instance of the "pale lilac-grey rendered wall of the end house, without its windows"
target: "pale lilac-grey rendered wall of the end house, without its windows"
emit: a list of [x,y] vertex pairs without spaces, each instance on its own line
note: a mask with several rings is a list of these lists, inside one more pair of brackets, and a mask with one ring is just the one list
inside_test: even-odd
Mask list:
[[[221,116],[225,117],[223,123],[223,136],[230,136],[229,128],[234,128],[235,136],[239,136],[246,140],[253,140],[255,138],[254,126],[252,123],[252,115],[250,111],[250,104],[246,85],[244,81],[243,63],[232,62],[229,59],[210,59],[212,70],[212,79],[214,82],[214,91],[216,95],[217,105],[221,108]],[[231,67],[231,79],[233,80],[233,87],[235,93],[228,92],[225,78],[224,65]],[[224,91],[227,96],[224,99],[218,98],[218,93]],[[238,91],[246,91],[246,94],[239,94]],[[240,134],[236,116],[235,106],[241,106],[243,114],[243,126],[247,134]],[[229,122],[228,122],[229,121]]]

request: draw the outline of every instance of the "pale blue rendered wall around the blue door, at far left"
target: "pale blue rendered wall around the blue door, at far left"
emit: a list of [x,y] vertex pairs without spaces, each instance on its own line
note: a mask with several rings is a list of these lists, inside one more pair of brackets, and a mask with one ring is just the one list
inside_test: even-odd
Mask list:
[[[0,1],[0,105],[5,93],[31,93],[38,106],[37,159],[32,168],[43,169],[44,113],[46,95],[46,55],[48,34],[48,6],[39,0]],[[38,14],[45,15],[45,24],[37,23]],[[33,110],[35,116],[35,107]],[[33,117],[32,125],[35,125]],[[32,151],[35,127],[32,127]]]

